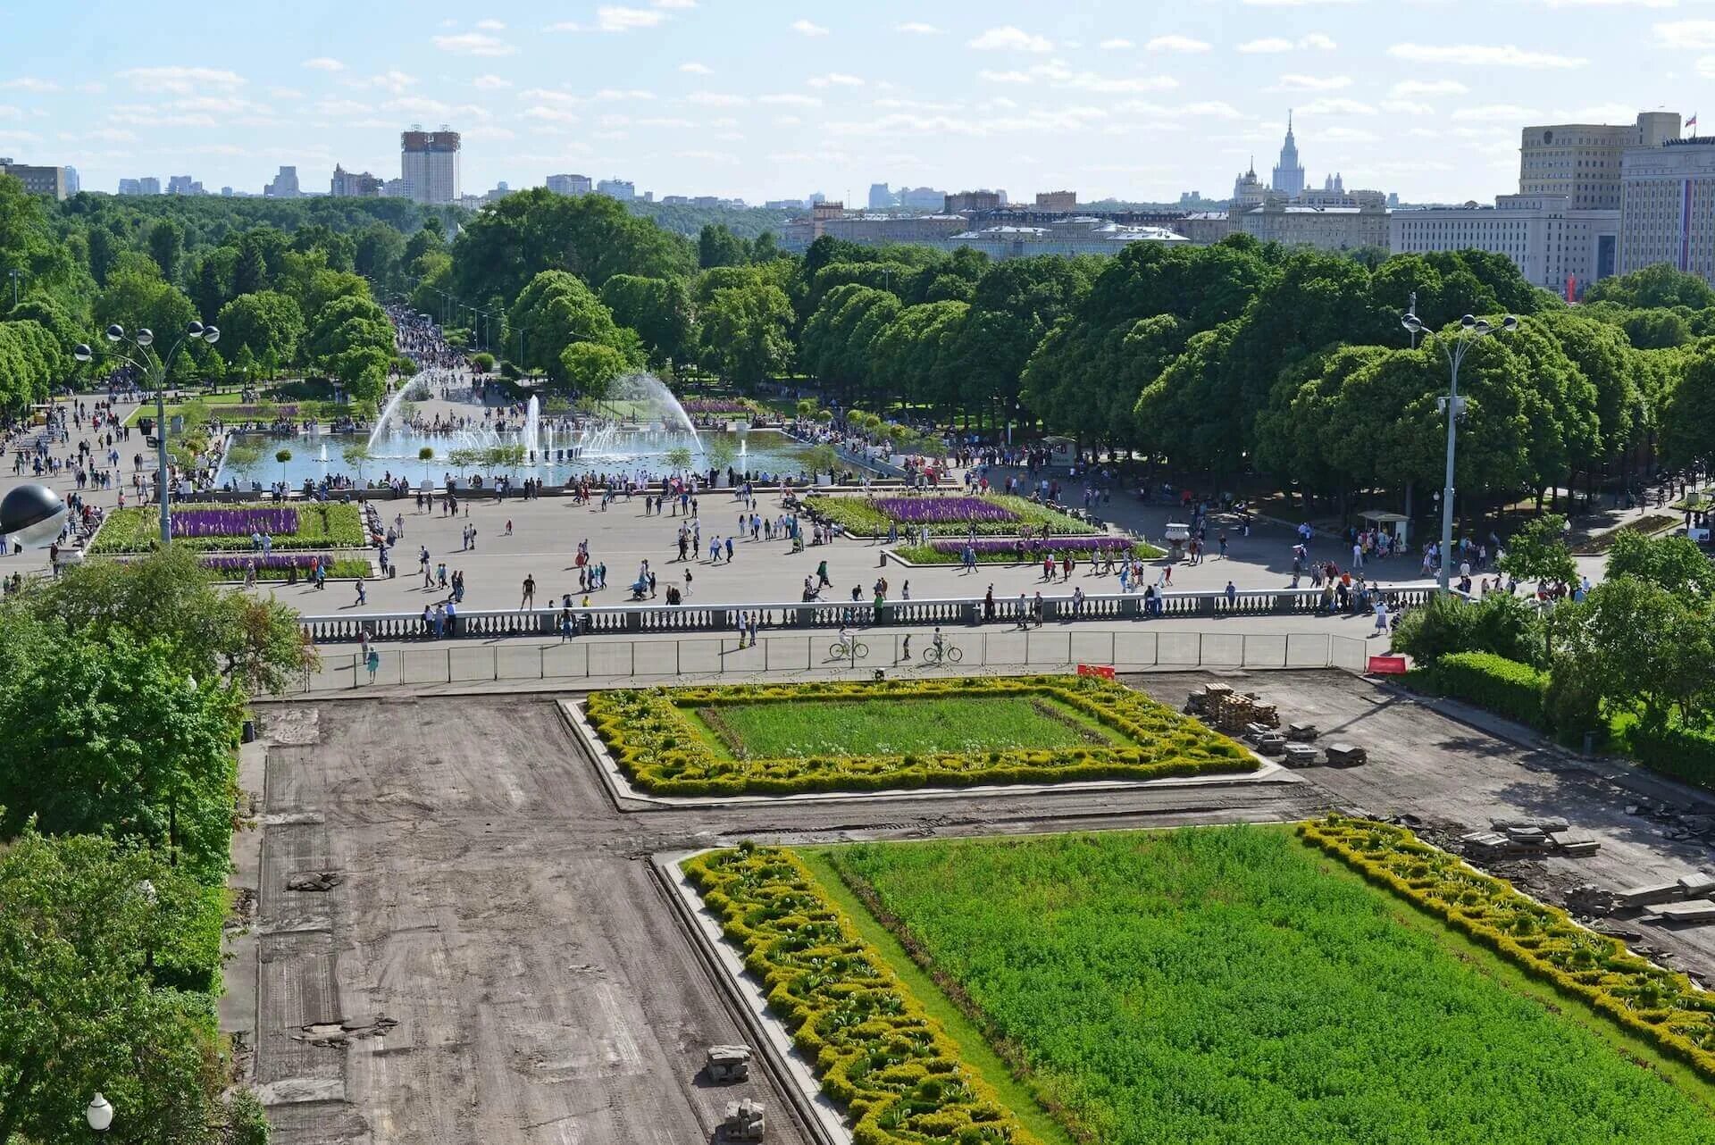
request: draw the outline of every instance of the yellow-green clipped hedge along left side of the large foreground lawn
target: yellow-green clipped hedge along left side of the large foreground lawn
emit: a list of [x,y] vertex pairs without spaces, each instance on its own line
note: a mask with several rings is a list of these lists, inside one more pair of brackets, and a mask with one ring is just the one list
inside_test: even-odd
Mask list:
[[744,847],[683,866],[851,1114],[854,1145],[1039,1145],[797,855]]

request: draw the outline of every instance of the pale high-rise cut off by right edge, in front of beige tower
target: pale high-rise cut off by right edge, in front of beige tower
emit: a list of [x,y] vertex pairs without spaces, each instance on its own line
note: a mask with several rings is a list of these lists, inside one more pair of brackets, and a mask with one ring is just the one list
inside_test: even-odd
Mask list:
[[1715,135],[1628,147],[1621,158],[1619,273],[1667,262],[1715,285]]

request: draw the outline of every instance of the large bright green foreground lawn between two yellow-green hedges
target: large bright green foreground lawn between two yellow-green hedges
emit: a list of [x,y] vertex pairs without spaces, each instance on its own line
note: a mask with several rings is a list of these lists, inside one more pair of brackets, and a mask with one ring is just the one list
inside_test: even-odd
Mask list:
[[1715,1142],[1689,1066],[1291,828],[815,857],[1080,1140]]

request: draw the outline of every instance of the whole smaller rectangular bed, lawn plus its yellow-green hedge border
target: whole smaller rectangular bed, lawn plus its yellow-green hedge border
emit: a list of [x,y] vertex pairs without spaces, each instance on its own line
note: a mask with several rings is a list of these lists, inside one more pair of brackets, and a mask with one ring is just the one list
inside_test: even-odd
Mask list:
[[1233,740],[1098,677],[737,684],[593,692],[638,787],[669,795],[883,790],[1254,771]]

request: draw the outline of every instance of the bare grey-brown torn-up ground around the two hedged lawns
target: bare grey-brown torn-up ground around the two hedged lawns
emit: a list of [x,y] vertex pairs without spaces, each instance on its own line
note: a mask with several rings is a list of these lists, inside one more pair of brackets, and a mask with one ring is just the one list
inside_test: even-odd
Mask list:
[[[1209,674],[1130,682],[1178,706]],[[749,1040],[647,857],[761,842],[1286,821],[1334,807],[1415,816],[1453,845],[1492,818],[1566,818],[1590,859],[1494,867],[1542,898],[1715,869],[1684,819],[1597,764],[1521,747],[1341,672],[1221,674],[1369,749],[1279,783],[856,799],[617,804],[563,723],[563,696],[264,704],[256,1082],[280,1145],[708,1142],[739,1095],[768,1140],[815,1142],[770,1068],[698,1078]],[[1621,776],[1622,782],[1631,782]],[[1665,788],[1662,788],[1665,790]],[[1660,795],[1652,790],[1650,795]],[[1681,804],[1691,797],[1677,788]],[[302,890],[292,890],[293,886]],[[1715,929],[1605,919],[1715,979]],[[244,967],[233,968],[244,980]]]

